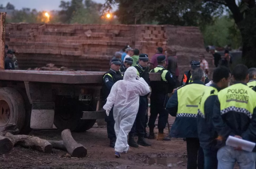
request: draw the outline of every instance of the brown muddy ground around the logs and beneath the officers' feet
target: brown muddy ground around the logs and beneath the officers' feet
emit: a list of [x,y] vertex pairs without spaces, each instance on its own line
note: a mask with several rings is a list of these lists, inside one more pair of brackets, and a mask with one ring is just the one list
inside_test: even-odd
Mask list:
[[[169,117],[170,125],[174,118]],[[59,130],[32,131],[30,135],[47,140],[61,140]],[[157,133],[157,128],[155,129]],[[166,127],[165,133],[168,133]],[[74,139],[87,147],[85,158],[70,158],[67,152],[54,149],[44,154],[32,149],[14,147],[5,155],[0,155],[0,168],[92,168],[92,169],[164,169],[186,168],[186,142],[173,138],[171,141],[148,140],[152,147],[131,148],[122,158],[114,156],[109,147],[106,127],[93,127],[87,132],[72,133]]]

